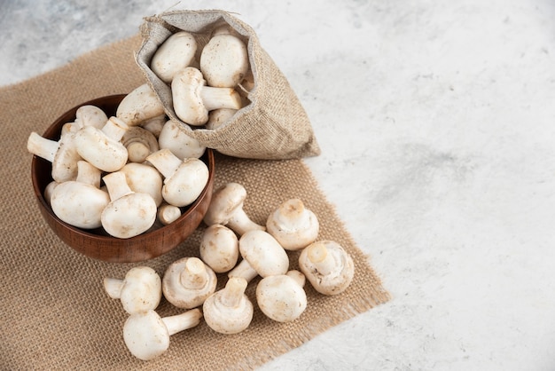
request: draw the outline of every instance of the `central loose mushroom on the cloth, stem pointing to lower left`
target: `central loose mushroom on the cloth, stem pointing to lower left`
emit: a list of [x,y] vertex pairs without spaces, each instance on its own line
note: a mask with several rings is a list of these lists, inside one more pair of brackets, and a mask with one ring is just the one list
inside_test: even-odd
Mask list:
[[228,277],[241,277],[247,282],[260,275],[262,278],[285,274],[289,269],[289,257],[285,249],[270,233],[254,230],[239,239],[239,252],[243,260]]

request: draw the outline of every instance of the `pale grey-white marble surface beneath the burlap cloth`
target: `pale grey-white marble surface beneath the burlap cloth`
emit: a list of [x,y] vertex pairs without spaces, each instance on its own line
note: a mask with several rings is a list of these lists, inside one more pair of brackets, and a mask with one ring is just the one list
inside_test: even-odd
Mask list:
[[254,27],[393,296],[263,370],[555,369],[554,2],[8,0],[0,84],[172,7]]

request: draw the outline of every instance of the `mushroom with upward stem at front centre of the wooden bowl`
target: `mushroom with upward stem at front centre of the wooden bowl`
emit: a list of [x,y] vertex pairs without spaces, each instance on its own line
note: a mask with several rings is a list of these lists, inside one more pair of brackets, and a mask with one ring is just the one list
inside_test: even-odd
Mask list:
[[103,180],[111,200],[100,216],[106,232],[113,237],[130,238],[147,231],[156,221],[152,196],[133,192],[121,171],[110,173]]

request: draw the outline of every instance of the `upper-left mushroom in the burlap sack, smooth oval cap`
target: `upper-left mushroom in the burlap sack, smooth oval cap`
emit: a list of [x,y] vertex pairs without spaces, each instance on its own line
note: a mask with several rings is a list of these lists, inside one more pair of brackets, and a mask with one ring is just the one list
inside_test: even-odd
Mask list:
[[179,70],[192,65],[196,52],[194,36],[185,31],[176,32],[161,43],[152,56],[152,72],[164,83],[171,83]]

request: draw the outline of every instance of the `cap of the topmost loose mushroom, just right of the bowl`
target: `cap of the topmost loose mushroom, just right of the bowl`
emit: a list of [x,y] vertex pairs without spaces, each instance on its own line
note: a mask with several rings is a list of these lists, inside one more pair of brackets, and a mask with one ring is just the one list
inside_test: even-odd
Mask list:
[[212,194],[212,201],[204,216],[207,225],[226,225],[236,209],[243,208],[246,189],[238,183],[228,183]]

